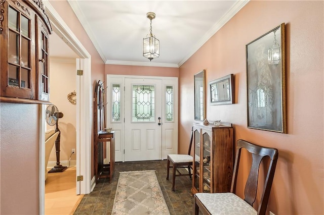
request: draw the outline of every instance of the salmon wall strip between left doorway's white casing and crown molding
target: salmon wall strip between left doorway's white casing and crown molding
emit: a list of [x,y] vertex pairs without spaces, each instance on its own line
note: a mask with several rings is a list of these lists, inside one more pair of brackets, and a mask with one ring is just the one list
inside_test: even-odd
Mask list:
[[[75,16],[73,10],[71,9],[70,5],[66,0],[62,1],[49,1],[53,8],[59,13],[62,17],[64,22],[68,25],[68,27],[72,30],[78,40],[83,44],[83,46],[87,49],[87,51],[91,55],[91,80],[92,80],[92,88],[91,92],[94,92],[96,83],[98,80],[104,80],[104,62],[101,59],[99,53],[97,52],[95,46],[93,45],[92,41],[90,40],[87,32],[80,24],[79,20]],[[91,109],[92,110],[92,109]],[[93,113],[91,113],[91,116]],[[91,148],[94,148],[94,136],[93,136],[93,124],[91,125]],[[91,177],[94,176],[94,169],[93,169],[93,153],[91,153]]]

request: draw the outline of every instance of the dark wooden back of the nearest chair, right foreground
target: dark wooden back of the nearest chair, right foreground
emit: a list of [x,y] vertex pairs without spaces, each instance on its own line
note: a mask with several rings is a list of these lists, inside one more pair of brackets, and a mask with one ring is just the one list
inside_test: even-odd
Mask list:
[[262,196],[258,208],[258,214],[265,214],[268,200],[269,200],[270,190],[273,182],[274,171],[278,159],[278,150],[275,148],[268,148],[268,147],[255,145],[245,140],[237,140],[234,172],[233,172],[232,185],[231,185],[231,192],[233,193],[235,193],[237,173],[238,173],[242,148],[247,149],[252,154],[252,165],[251,165],[251,170],[245,187],[245,199],[244,199],[250,205],[253,205],[256,199],[259,168],[262,159],[265,156],[268,156],[270,158],[270,164],[268,170],[265,170],[267,176],[265,179],[264,189],[262,192]]

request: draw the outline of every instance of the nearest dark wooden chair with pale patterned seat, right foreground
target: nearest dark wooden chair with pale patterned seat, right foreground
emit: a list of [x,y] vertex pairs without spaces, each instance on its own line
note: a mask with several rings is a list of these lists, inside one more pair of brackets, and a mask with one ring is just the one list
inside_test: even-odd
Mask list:
[[[245,186],[244,199],[235,195],[239,159],[242,148],[247,149],[248,152],[252,154],[252,166]],[[270,157],[270,164],[268,170],[265,170],[267,176],[257,211],[253,208],[253,203],[257,195],[260,163],[265,156]],[[275,148],[262,147],[245,140],[238,140],[231,191],[229,193],[196,193],[194,195],[194,214],[197,215],[199,209],[204,214],[265,214],[277,159],[278,150]]]

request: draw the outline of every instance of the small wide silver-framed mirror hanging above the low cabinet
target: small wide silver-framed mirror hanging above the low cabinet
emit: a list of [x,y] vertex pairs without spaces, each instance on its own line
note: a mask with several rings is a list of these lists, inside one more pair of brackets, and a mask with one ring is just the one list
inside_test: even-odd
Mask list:
[[232,104],[234,98],[234,75],[216,79],[209,83],[210,102],[215,104]]

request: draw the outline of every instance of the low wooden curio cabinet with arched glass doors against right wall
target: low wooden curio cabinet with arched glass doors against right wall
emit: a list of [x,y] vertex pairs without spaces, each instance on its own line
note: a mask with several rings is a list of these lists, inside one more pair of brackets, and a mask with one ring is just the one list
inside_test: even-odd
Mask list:
[[193,124],[193,177],[191,193],[229,192],[234,139],[233,127]]

